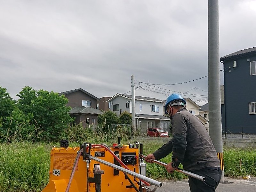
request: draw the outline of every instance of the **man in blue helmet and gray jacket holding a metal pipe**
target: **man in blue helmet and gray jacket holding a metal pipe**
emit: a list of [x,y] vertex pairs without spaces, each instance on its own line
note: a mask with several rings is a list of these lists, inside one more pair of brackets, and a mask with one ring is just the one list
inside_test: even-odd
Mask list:
[[164,112],[170,117],[173,137],[145,160],[153,163],[150,159],[159,160],[172,152],[168,173],[182,164],[184,170],[205,177],[205,181],[188,177],[191,192],[215,191],[221,179],[220,160],[204,124],[188,112],[186,101],[176,93],[166,99]]

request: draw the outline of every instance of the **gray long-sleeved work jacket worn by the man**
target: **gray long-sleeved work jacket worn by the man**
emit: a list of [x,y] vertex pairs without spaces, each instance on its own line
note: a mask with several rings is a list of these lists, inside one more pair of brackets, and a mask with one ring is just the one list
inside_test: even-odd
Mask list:
[[172,162],[176,166],[181,163],[187,171],[220,166],[217,152],[204,125],[186,108],[180,108],[173,115],[172,135],[172,140],[153,153],[157,160],[172,152]]

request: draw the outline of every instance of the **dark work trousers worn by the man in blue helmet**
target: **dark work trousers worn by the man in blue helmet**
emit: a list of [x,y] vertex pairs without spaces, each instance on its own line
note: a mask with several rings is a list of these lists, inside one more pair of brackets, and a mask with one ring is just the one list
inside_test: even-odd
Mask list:
[[188,183],[191,192],[212,192],[215,191],[220,183],[220,167],[206,167],[204,169],[191,172],[205,177],[205,181],[201,181],[193,177],[188,177]]

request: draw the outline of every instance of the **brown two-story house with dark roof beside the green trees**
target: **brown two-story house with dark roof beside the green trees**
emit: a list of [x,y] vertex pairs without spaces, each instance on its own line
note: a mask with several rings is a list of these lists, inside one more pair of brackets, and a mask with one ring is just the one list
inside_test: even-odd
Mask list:
[[59,95],[65,95],[68,99],[67,106],[72,108],[69,113],[71,117],[76,118],[76,124],[82,122],[84,127],[97,124],[98,115],[102,113],[101,110],[96,109],[99,98],[81,88],[61,92]]

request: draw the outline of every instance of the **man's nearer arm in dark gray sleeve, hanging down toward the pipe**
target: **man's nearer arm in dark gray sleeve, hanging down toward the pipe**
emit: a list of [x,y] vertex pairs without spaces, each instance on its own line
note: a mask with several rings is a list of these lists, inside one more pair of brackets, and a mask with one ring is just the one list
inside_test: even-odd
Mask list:
[[187,124],[181,114],[175,114],[172,118],[172,135],[172,163],[178,167],[184,160],[187,147]]

